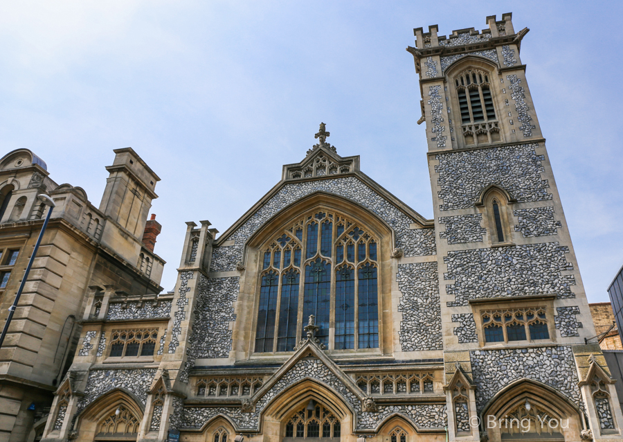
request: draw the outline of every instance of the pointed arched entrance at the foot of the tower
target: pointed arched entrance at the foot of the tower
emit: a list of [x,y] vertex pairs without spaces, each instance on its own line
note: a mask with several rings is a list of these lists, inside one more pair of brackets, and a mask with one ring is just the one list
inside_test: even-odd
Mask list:
[[577,405],[545,384],[521,380],[492,398],[481,426],[489,441],[564,442],[581,440]]

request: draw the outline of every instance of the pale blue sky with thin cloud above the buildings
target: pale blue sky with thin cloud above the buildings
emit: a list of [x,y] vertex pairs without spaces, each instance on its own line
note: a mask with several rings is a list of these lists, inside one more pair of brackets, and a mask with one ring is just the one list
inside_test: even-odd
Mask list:
[[0,149],[28,148],[99,205],[113,149],[161,177],[156,253],[185,221],[225,231],[327,123],[338,154],[432,218],[413,28],[513,12],[591,302],[623,264],[620,1],[5,1]]

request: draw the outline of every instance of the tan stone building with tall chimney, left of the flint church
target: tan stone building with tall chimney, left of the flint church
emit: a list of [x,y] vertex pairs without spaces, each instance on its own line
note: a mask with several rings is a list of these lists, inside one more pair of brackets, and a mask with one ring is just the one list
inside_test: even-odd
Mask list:
[[[109,315],[135,300],[170,307],[170,296],[157,295],[165,263],[154,254],[153,234],[143,243],[159,178],[131,148],[115,153],[99,208],[82,188],[53,182],[30,150],[0,159],[2,326],[47,214],[37,195],[46,193],[56,204],[0,349],[0,441],[42,438],[54,392],[88,323],[85,309],[93,303],[87,301],[101,299],[100,310]],[[169,309],[160,309],[168,317]],[[80,351],[98,346],[100,334],[91,330]]]

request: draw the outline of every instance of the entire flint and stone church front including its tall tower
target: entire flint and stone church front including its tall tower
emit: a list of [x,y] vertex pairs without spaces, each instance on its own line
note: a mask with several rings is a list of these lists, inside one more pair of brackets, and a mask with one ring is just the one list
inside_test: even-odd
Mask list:
[[[318,143],[170,302],[93,290],[45,441],[622,440],[510,14],[415,29],[434,219]],[[363,438],[363,439],[362,439]]]

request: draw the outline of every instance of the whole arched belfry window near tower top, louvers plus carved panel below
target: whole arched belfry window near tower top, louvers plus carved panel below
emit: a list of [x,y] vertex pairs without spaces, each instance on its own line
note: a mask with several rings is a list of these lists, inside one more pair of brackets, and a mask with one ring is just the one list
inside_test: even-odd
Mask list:
[[491,75],[488,71],[470,68],[454,78],[462,133],[467,145],[501,141]]

